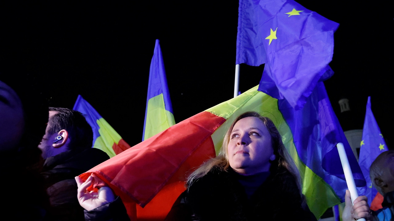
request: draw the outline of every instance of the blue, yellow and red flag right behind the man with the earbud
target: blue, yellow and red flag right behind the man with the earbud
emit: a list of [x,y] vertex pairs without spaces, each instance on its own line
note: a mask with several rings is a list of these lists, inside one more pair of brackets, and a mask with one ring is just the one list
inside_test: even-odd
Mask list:
[[93,146],[94,148],[100,149],[113,157],[119,153],[122,153],[126,149],[130,148],[122,137],[109,125],[102,116],[85,101],[82,96],[78,95],[74,104],[73,110],[78,110],[82,114],[85,114],[87,123],[93,129]]

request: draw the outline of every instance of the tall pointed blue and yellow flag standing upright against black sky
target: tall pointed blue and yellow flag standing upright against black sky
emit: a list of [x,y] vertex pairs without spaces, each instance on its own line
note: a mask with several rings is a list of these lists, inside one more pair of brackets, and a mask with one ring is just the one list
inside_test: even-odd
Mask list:
[[156,39],[149,70],[147,106],[142,141],[175,124],[159,40]]

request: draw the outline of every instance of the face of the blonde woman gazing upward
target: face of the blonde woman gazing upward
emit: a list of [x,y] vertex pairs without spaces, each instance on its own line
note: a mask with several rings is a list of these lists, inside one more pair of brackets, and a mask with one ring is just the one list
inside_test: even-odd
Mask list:
[[269,171],[273,154],[271,135],[256,117],[239,120],[230,133],[227,148],[232,169],[242,174]]

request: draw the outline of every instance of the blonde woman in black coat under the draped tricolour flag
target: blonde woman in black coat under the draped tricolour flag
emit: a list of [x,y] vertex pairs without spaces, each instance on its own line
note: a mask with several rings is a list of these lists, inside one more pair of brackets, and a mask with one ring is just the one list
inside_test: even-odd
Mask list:
[[316,220],[273,122],[238,116],[221,152],[195,170],[166,220]]

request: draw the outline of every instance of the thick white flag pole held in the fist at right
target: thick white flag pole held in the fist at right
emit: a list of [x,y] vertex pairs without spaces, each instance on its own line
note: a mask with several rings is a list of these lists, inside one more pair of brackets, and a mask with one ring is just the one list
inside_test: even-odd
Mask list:
[[[341,159],[342,168],[344,169],[346,184],[348,184],[348,190],[350,192],[351,204],[353,204],[355,199],[359,197],[359,193],[357,193],[357,188],[349,165],[348,156],[346,155],[344,144],[338,143],[336,144],[336,148],[338,148],[339,158]],[[357,220],[365,221],[364,218]]]

